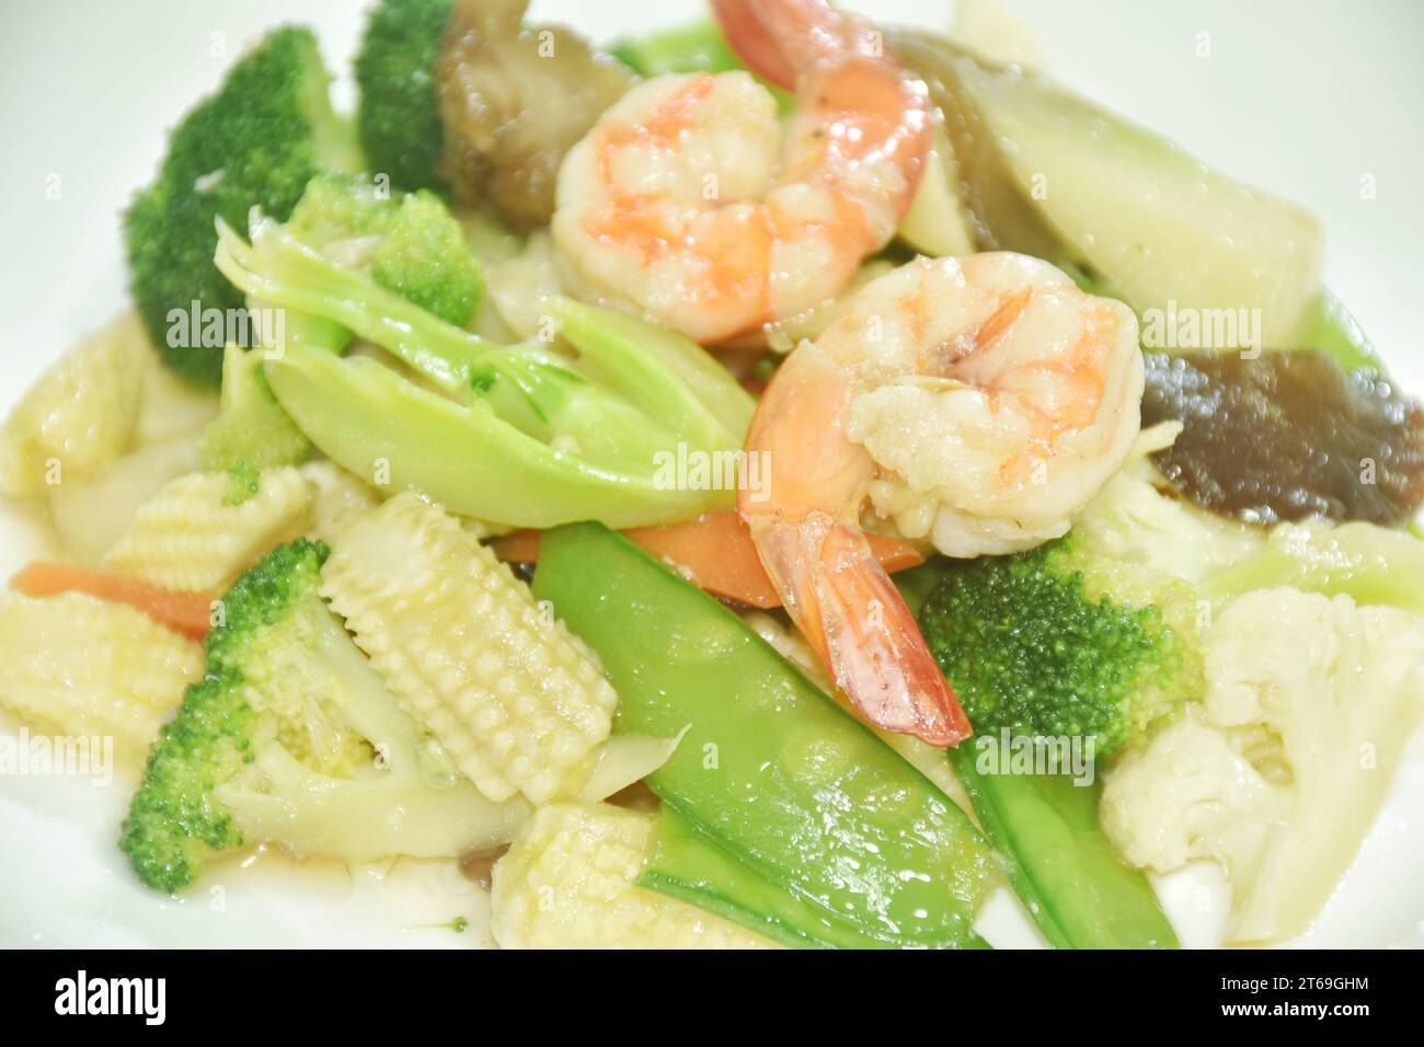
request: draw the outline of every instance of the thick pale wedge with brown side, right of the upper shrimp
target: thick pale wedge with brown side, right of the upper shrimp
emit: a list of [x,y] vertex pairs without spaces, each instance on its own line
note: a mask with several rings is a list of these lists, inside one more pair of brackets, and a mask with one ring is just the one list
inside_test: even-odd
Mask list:
[[889,37],[944,111],[981,248],[1077,262],[1139,315],[1259,311],[1260,345],[1300,343],[1323,254],[1309,212],[1037,73],[918,30]]

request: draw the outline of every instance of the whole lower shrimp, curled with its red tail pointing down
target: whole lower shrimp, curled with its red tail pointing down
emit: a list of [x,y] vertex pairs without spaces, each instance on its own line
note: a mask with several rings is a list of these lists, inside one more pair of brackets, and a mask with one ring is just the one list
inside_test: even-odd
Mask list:
[[866,719],[931,745],[971,732],[862,513],[956,557],[1058,537],[1126,462],[1142,385],[1128,306],[1008,252],[910,262],[786,358],[746,436],[766,483],[738,510]]

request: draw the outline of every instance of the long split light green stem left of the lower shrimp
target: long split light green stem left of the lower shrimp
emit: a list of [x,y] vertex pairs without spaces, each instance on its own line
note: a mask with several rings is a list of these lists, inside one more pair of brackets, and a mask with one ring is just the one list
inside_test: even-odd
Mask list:
[[[459,252],[467,256],[463,244]],[[266,377],[306,436],[357,476],[517,527],[669,523],[735,500],[729,484],[695,487],[675,473],[679,456],[736,454],[753,407],[679,335],[551,299],[560,339],[496,345],[273,222],[253,226],[251,245],[224,229],[218,265],[283,308],[288,345]],[[352,333],[419,382],[343,359]]]

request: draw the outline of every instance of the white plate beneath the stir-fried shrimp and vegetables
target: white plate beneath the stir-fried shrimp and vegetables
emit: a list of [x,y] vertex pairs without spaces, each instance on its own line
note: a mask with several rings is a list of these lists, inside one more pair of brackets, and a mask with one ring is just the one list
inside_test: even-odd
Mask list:
[[[852,4],[883,21],[943,27],[950,3]],[[353,6],[352,6],[353,7]],[[1407,387],[1424,392],[1418,293],[1424,285],[1424,142],[1418,100],[1424,7],[1376,0],[1017,0],[1067,84],[1163,131],[1208,162],[1312,208],[1329,234],[1327,279]],[[590,36],[676,24],[696,0],[535,0],[537,19]],[[649,14],[655,11],[655,14]],[[345,70],[360,16],[329,0],[68,0],[0,7],[0,141],[4,145],[4,278],[0,405],[78,333],[125,302],[117,215],[152,175],[165,128],[205,91],[244,41],[306,21]],[[1203,54],[1208,51],[1208,54]],[[1373,194],[1364,188],[1373,187]],[[0,528],[0,568],[43,547]],[[484,896],[450,869],[305,870],[278,859],[224,869],[181,903],[140,889],[114,848],[121,786],[0,778],[0,946],[336,944],[486,942]],[[1424,943],[1424,736],[1360,858],[1304,943]],[[272,868],[263,872],[262,866]],[[1183,944],[1219,940],[1225,892],[1212,869],[1163,885]],[[466,915],[466,937],[420,929]],[[980,922],[991,942],[1037,936],[1001,892]]]

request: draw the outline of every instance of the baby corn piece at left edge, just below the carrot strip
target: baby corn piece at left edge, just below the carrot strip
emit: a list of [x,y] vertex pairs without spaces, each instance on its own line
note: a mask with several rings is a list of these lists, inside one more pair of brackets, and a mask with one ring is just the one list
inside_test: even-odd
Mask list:
[[140,764],[201,675],[201,644],[125,604],[0,595],[0,705],[36,728],[112,736],[115,754]]

